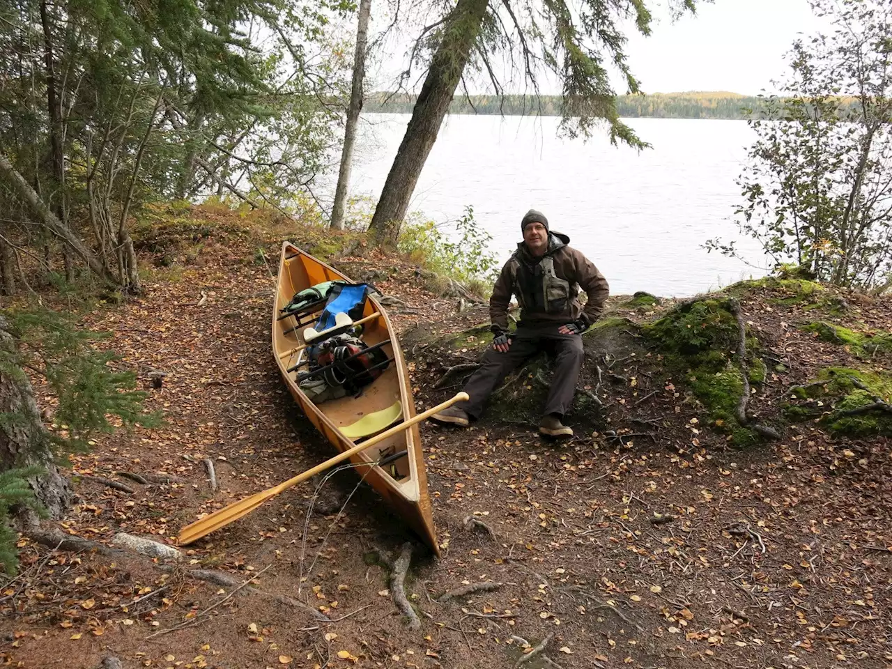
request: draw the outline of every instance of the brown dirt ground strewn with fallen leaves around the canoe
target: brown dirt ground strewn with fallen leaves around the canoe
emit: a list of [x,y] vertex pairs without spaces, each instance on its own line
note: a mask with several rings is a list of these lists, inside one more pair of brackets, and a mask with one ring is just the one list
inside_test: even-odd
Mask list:
[[[268,333],[273,278],[251,257],[244,244],[208,244],[187,277],[156,277],[139,299],[85,318],[113,333],[108,345],[166,420],[97,439],[90,454],[71,458],[77,498],[65,532],[172,544],[200,513],[331,455],[280,382]],[[382,260],[335,264],[358,277]],[[426,293],[410,263],[387,267],[375,283],[406,304],[391,310],[401,330],[485,320]],[[888,321],[888,306],[865,307],[860,318]],[[790,362],[795,374],[783,383],[801,383],[822,356],[839,355],[782,326],[783,310],[754,301],[743,310]],[[432,390],[450,364],[418,362],[419,408],[455,392]],[[619,363],[615,376],[639,376],[636,364]],[[167,374],[160,389],[153,371]],[[70,669],[107,656],[128,668],[182,669],[483,669],[527,655],[521,666],[564,669],[892,664],[888,440],[832,439],[803,424],[780,442],[734,449],[699,422],[673,379],[651,376],[609,384],[609,406],[598,410],[612,434],[553,444],[533,427],[485,419],[467,431],[424,425],[439,560],[349,470],[286,491],[195,543],[183,566],[22,539],[21,574],[0,590],[0,659]],[[766,388],[784,391],[780,381]],[[764,397],[754,403],[770,413]],[[217,491],[204,458],[215,464]],[[120,471],[164,476],[143,485]],[[394,606],[384,566],[406,541],[415,547],[406,592],[417,631]],[[194,568],[236,582],[253,575],[258,591],[309,606],[196,581],[186,575]],[[492,590],[435,601],[480,582]],[[547,645],[524,653],[524,640]]]

